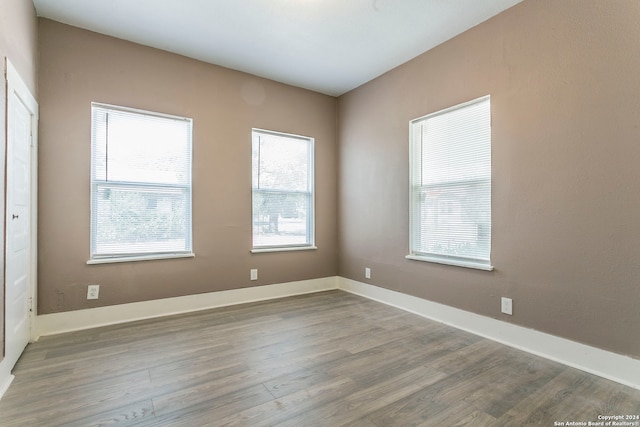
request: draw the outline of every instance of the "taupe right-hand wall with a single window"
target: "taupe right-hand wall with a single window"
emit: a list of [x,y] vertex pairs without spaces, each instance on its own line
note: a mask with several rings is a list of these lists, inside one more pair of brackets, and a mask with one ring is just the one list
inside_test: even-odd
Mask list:
[[[339,274],[640,357],[639,76],[640,2],[526,0],[340,97]],[[487,94],[495,271],[406,260],[409,120]]]

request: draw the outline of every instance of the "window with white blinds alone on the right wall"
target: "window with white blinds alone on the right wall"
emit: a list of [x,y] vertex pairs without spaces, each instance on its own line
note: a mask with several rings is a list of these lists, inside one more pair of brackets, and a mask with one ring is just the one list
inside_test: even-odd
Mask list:
[[410,255],[492,270],[489,96],[410,122]]

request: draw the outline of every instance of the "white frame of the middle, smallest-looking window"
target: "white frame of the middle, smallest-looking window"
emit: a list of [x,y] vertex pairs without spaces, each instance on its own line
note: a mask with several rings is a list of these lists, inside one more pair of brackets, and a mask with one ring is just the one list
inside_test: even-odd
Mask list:
[[[261,252],[282,252],[282,251],[301,251],[301,250],[314,250],[317,249],[315,246],[315,183],[314,183],[314,175],[315,175],[315,139],[309,136],[295,135],[291,133],[284,132],[276,132],[265,129],[251,129],[251,144],[252,144],[252,152],[256,142],[259,144],[260,136],[276,136],[280,138],[290,138],[295,140],[305,141],[308,144],[308,158],[307,158],[307,190],[301,192],[299,190],[292,190],[291,193],[304,193],[307,195],[309,199],[309,212],[307,213],[306,220],[306,242],[305,243],[290,243],[290,244],[280,244],[280,245],[256,245],[254,241],[254,227],[256,226],[254,222],[255,212],[254,212],[254,194],[258,192],[268,192],[271,191],[269,188],[261,188],[256,187],[254,184],[257,181],[257,177],[255,176],[256,170],[259,172],[259,165],[256,167],[255,159],[252,155],[252,188],[251,188],[251,205],[252,205],[252,214],[251,214],[251,253],[261,253]],[[285,190],[274,190],[278,192],[285,192]]]

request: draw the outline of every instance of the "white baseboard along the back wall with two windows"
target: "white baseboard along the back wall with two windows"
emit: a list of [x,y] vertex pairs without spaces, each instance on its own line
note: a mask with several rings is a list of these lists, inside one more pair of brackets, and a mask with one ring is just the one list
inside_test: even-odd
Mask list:
[[189,313],[228,305],[244,304],[338,288],[338,278],[302,280],[275,285],[254,286],[206,294],[134,302],[64,313],[44,314],[36,318],[35,336],[97,328],[136,320]]

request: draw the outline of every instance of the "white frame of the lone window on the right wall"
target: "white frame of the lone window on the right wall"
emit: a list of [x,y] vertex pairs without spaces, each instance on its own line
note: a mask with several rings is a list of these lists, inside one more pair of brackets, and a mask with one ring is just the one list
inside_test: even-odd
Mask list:
[[[478,99],[474,99],[469,102],[465,102],[450,108],[446,108],[441,111],[434,112],[432,114],[428,114],[423,117],[419,117],[409,122],[409,133],[410,133],[409,245],[410,247],[409,247],[409,255],[406,256],[407,259],[434,262],[439,264],[447,264],[447,265],[466,267],[466,268],[474,268],[474,269],[486,270],[486,271],[493,270],[493,266],[491,265],[491,259],[490,259],[491,258],[491,195],[490,195],[491,173],[489,173],[488,178],[484,177],[480,179],[480,178],[470,177],[468,179],[468,182],[480,183],[482,181],[483,183],[485,183],[485,185],[487,182],[489,184],[489,197],[488,197],[488,204],[489,204],[488,206],[488,211],[489,211],[488,246],[489,246],[489,249],[486,256],[466,257],[466,256],[424,251],[422,250],[423,246],[422,246],[422,243],[420,242],[420,237],[419,237],[422,234],[422,228],[423,228],[423,224],[421,223],[421,215],[420,215],[421,210],[420,210],[419,198],[420,198],[420,194],[424,192],[425,188],[428,187],[427,185],[423,185],[422,177],[421,177],[421,174],[423,173],[422,159],[424,154],[421,125],[427,122],[430,118],[448,114],[450,112],[460,110],[460,109],[472,106],[474,104],[489,102],[489,118],[488,119],[489,119],[489,126],[490,126],[490,123],[491,123],[491,113],[490,113],[491,101],[490,100],[491,100],[490,96],[487,95]],[[489,139],[491,139],[490,134],[489,134]],[[490,160],[491,148],[490,147],[491,147],[491,141],[489,141],[489,153],[488,153],[489,169],[491,169],[491,160]],[[457,183],[459,184],[459,182],[460,181],[458,181]],[[447,184],[440,184],[440,185],[447,185]]]

